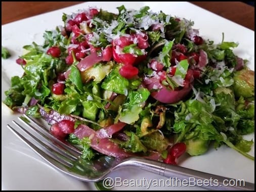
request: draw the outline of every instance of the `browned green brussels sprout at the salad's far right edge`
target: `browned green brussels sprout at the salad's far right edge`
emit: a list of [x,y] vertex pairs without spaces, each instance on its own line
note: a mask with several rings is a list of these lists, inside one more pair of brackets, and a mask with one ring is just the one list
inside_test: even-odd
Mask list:
[[254,72],[241,70],[234,74],[234,93],[236,97],[254,97]]

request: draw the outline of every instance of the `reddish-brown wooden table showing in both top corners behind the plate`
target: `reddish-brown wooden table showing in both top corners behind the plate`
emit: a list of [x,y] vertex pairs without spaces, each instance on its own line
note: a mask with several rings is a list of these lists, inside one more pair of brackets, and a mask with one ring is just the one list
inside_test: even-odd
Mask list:
[[[81,2],[2,2],[2,25],[79,3]],[[254,31],[254,7],[252,6],[242,2],[191,3]]]

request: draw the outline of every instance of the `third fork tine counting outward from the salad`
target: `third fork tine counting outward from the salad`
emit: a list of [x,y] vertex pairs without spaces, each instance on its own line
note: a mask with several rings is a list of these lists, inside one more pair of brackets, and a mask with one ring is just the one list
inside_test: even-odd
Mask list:
[[[29,133],[26,129],[24,129],[24,127],[22,127],[19,123],[17,123],[16,121],[13,120],[13,123],[18,126],[21,130],[23,130],[27,135],[29,135],[33,140],[35,140],[38,144],[40,144],[42,147],[44,147],[46,149],[45,153],[47,153],[48,155],[50,155],[53,159],[55,159],[58,162],[61,162],[62,164],[68,166],[68,167],[72,167],[73,163],[70,159],[68,159],[67,157],[63,156],[62,154],[60,154],[59,152],[57,152],[56,150],[50,148],[48,145],[46,145],[45,143],[43,143],[42,141],[40,141],[39,139],[37,139],[35,136],[33,136],[31,133]],[[10,125],[9,125],[10,126]],[[21,135],[21,134],[20,134]],[[23,141],[24,141],[24,137],[23,137]],[[31,144],[31,142],[30,142]]]

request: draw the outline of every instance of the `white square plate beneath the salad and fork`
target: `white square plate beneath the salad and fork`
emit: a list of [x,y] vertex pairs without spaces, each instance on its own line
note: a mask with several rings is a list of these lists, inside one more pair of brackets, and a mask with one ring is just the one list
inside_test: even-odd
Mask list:
[[[2,45],[11,50],[9,59],[2,59],[2,101],[4,91],[10,87],[10,79],[14,75],[22,75],[22,69],[15,60],[22,54],[22,47],[35,41],[42,43],[42,34],[45,30],[55,29],[63,25],[62,13],[71,14],[78,9],[95,7],[117,13],[116,7],[124,5],[129,9],[139,9],[149,6],[152,11],[162,10],[172,16],[184,17],[195,22],[194,28],[199,29],[204,38],[239,42],[235,53],[249,60],[249,67],[254,71],[254,31],[235,24],[227,19],[212,14],[206,10],[186,2],[89,2],[54,12],[34,16],[10,24],[2,25]],[[33,9],[33,8],[31,8]],[[44,160],[32,152],[6,127],[17,115],[13,115],[2,104],[2,189],[3,190],[91,190],[96,189],[93,183],[81,182],[62,174],[48,165]],[[246,139],[254,140],[254,134]],[[254,156],[254,145],[250,154]],[[180,166],[222,175],[226,177],[244,179],[254,183],[254,161],[251,161],[236,151],[221,147],[211,149],[205,155],[197,157],[184,156]],[[138,169],[123,169],[110,175],[123,179],[165,179],[164,177],[150,174]],[[114,189],[147,189],[148,186],[118,186]],[[178,190],[194,189],[198,187],[170,187],[150,186],[152,190]]]

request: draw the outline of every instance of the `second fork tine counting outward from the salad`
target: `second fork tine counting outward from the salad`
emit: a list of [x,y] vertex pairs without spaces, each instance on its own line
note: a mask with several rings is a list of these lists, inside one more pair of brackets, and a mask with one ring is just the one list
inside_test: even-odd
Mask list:
[[[61,141],[59,141],[59,140],[58,140],[58,142],[53,141],[51,138],[47,137],[46,134],[42,133],[41,131],[37,130],[34,126],[32,126],[31,124],[26,122],[23,118],[18,117],[18,119],[21,122],[23,122],[25,125],[30,127],[37,134],[39,134],[41,137],[44,137],[48,141],[48,144],[51,145],[55,150],[57,150],[63,156],[66,156],[67,158],[72,158],[73,160],[77,160],[78,159],[79,155],[77,153],[74,153],[73,151],[70,152],[70,150],[67,150],[66,148],[58,145],[59,143],[62,143]],[[53,145],[53,142],[54,142],[54,145]],[[62,144],[64,145],[64,143],[62,143]]]

